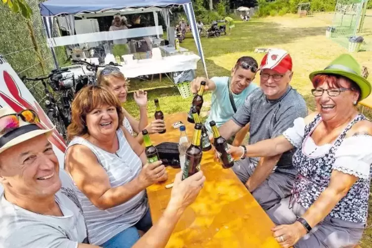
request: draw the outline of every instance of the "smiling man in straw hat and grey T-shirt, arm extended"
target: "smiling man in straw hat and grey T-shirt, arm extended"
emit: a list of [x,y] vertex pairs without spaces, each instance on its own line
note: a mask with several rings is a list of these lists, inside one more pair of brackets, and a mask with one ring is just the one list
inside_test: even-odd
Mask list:
[[[0,109],[1,248],[94,248],[89,245],[83,209],[70,176],[59,168],[31,110]],[[181,181],[176,175],[162,217],[133,248],[164,248],[185,208],[203,187],[203,172]]]

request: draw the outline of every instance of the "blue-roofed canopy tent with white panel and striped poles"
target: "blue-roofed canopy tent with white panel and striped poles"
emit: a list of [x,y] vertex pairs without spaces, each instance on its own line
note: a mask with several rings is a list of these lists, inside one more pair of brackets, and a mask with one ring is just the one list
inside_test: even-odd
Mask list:
[[[58,63],[56,60],[54,47],[67,44],[85,43],[89,41],[107,41],[116,39],[126,39],[138,36],[152,36],[163,33],[162,26],[159,26],[158,13],[160,12],[165,20],[166,27],[169,27],[169,12],[170,7],[182,5],[185,9],[188,21],[191,26],[195,44],[198,49],[199,56],[202,59],[205,73],[207,75],[206,62],[200,41],[199,33],[196,32],[196,18],[190,0],[47,0],[40,3],[41,16],[47,35],[47,43],[52,50],[56,67]],[[91,16],[108,16],[116,13],[133,14],[153,12],[155,26],[147,28],[129,29],[115,32],[98,32],[93,34],[75,35],[74,20],[75,16],[81,18],[88,18]],[[66,23],[70,36],[53,38],[52,24],[53,17],[65,16]],[[93,39],[93,40],[92,40]],[[207,76],[208,77],[208,76]]]

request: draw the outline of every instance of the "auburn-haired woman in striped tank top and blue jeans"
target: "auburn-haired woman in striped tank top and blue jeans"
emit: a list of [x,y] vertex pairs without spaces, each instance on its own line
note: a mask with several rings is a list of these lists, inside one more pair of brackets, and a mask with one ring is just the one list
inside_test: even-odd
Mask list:
[[123,119],[119,99],[106,87],[86,86],[72,103],[65,169],[77,187],[89,240],[104,248],[129,248],[138,230],[152,226],[145,189],[167,179],[161,162],[146,164]]

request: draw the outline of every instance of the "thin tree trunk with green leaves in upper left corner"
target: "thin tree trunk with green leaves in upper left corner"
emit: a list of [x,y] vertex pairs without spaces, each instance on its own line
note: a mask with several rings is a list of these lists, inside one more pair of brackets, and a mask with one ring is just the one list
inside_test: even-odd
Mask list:
[[39,44],[35,37],[34,26],[31,21],[32,9],[30,8],[30,5],[25,0],[2,0],[2,3],[7,4],[12,12],[20,13],[24,18],[26,26],[30,32],[31,41],[34,45],[36,56],[40,62],[41,71],[43,74],[46,74],[44,60],[42,59]]

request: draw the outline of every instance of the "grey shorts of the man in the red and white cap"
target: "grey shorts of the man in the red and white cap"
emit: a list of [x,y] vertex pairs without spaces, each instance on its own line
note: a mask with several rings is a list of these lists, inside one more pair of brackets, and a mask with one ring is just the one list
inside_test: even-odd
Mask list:
[[[236,161],[233,166],[233,171],[244,184],[253,174],[254,169],[255,164],[253,164],[249,158]],[[264,210],[267,210],[290,195],[293,180],[293,175],[275,171],[252,192],[252,195],[259,205],[261,205]]]

